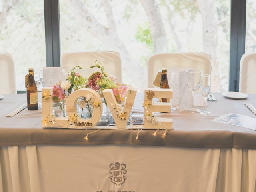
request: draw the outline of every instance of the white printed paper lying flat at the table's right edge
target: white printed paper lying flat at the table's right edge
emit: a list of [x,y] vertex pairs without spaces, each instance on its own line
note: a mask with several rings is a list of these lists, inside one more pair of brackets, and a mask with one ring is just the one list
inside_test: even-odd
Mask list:
[[252,129],[252,130],[256,131],[256,118],[252,118],[252,117],[245,116],[245,115],[229,113],[229,114],[220,116],[218,118],[215,118],[212,121],[229,124],[229,125],[245,127],[245,128]]

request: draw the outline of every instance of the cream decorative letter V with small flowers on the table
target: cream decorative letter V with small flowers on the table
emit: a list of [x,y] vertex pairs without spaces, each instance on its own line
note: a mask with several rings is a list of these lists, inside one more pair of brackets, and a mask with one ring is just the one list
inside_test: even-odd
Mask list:
[[104,98],[108,104],[108,108],[112,113],[113,119],[116,123],[116,127],[118,129],[125,129],[127,125],[128,118],[130,116],[130,112],[132,110],[132,106],[134,103],[134,99],[137,93],[137,90],[128,91],[128,96],[126,98],[126,102],[124,104],[124,108],[118,110],[118,103],[114,96],[112,89],[105,89],[103,92]]

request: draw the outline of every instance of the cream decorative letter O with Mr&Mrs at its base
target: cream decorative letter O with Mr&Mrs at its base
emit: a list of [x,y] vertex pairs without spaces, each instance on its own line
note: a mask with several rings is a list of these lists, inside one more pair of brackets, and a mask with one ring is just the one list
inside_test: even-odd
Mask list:
[[[84,118],[79,117],[76,106],[77,106],[78,98],[85,97],[89,93],[92,94],[94,99],[99,102],[99,106],[93,107],[92,117],[86,120]],[[77,116],[76,122],[90,122],[92,123],[92,126],[96,125],[102,116],[102,100],[100,98],[100,94],[98,94],[98,92],[90,88],[81,88],[74,91],[66,99],[66,112],[67,112],[67,117],[72,115]],[[92,127],[92,126],[81,126],[81,127]]]

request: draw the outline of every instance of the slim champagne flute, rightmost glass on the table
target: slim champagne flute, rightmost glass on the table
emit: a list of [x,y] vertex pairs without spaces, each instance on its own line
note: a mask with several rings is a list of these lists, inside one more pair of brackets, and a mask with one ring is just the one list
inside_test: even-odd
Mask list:
[[207,106],[207,98],[211,90],[211,75],[202,75],[201,78],[202,78],[201,90],[202,90],[202,95],[204,96],[204,110],[200,112],[200,114],[209,115],[211,114],[211,112],[206,111],[206,106]]

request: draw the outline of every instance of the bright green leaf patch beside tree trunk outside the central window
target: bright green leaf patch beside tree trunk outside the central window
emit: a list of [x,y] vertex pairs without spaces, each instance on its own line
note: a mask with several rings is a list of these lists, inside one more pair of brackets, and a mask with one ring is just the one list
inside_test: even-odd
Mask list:
[[146,43],[146,45],[150,48],[153,46],[153,40],[152,40],[152,36],[150,34],[148,23],[137,27],[135,38],[139,42]]

